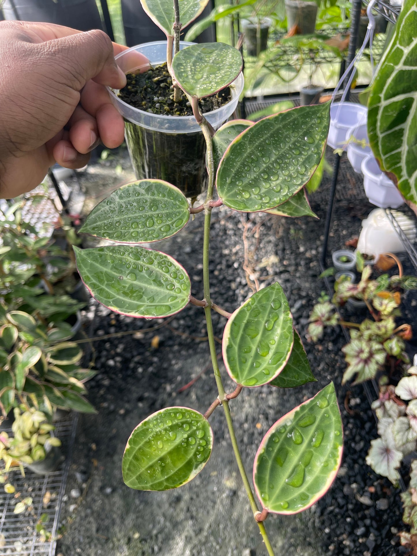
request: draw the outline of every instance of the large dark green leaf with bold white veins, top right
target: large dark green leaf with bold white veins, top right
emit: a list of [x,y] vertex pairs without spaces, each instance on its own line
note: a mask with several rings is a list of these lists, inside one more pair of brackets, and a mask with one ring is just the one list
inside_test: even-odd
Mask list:
[[413,202],[417,202],[416,28],[415,0],[406,0],[368,102],[371,149],[381,170],[392,173],[400,192]]

